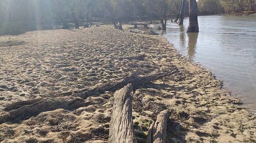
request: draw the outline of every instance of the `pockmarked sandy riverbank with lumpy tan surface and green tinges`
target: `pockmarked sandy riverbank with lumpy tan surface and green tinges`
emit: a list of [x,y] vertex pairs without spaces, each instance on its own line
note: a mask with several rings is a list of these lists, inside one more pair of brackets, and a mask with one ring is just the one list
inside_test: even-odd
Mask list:
[[[146,57],[120,58],[138,55]],[[186,60],[163,37],[112,26],[1,36],[0,114],[17,101],[102,85],[135,71],[146,75],[172,67],[180,73],[137,87],[133,94],[137,142],[146,141],[150,122],[167,108],[172,110],[168,143],[256,142],[256,116],[238,106],[240,101],[222,89],[209,70]],[[0,142],[107,142],[113,94],[88,97],[86,101],[95,104],[86,107],[2,123]]]

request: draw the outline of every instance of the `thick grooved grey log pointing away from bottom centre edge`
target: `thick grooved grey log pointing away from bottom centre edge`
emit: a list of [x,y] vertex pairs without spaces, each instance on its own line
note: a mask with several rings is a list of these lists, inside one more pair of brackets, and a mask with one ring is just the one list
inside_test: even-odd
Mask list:
[[132,121],[131,83],[114,93],[114,103],[110,119],[110,143],[136,143]]

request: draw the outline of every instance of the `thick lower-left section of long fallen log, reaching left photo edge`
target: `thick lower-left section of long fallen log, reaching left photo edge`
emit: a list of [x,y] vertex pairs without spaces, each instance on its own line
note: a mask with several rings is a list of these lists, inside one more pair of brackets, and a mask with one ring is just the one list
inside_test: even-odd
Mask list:
[[[96,104],[96,102],[85,102],[84,99],[74,96],[47,97],[41,100],[37,100],[37,102],[34,102],[33,104],[27,104],[20,106],[18,109],[5,112],[0,116],[0,123],[5,121],[18,121],[19,119],[28,119],[33,115],[44,111],[51,111],[59,108],[76,109],[79,107],[89,106],[91,104]],[[11,107],[9,107],[9,109],[10,108]]]

